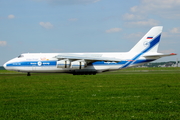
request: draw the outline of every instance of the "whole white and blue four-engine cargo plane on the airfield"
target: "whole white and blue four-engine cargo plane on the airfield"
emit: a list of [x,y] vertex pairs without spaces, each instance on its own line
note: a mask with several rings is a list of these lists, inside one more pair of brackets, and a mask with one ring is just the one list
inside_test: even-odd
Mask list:
[[6,70],[89,75],[142,65],[175,53],[158,53],[162,26],[155,26],[129,51],[105,53],[24,53],[6,62]]

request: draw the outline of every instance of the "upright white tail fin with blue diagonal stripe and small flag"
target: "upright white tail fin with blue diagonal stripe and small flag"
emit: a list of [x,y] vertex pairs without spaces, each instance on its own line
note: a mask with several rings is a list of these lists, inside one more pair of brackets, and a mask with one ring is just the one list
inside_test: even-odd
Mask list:
[[157,53],[162,29],[162,26],[151,28],[149,32],[147,32],[146,35],[129,52]]

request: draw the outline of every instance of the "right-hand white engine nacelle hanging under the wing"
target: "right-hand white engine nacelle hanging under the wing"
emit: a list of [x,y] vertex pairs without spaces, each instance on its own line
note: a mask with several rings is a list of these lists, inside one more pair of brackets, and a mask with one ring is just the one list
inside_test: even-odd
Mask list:
[[84,69],[86,67],[85,61],[74,61],[71,62],[71,68],[73,69]]

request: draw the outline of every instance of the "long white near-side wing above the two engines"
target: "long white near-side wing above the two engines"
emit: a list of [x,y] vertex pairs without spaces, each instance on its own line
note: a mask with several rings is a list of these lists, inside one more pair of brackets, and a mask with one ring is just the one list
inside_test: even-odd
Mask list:
[[93,55],[76,55],[76,54],[72,54],[72,55],[57,55],[55,56],[55,58],[57,59],[69,59],[72,61],[75,60],[86,60],[86,61],[112,61],[112,62],[120,62],[120,59],[117,58],[113,58],[113,57],[101,57],[101,56],[93,56]]

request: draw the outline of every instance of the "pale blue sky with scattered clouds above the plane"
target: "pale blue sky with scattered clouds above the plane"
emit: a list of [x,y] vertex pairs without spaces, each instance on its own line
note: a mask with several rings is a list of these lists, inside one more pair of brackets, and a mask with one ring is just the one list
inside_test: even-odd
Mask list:
[[153,26],[163,26],[158,52],[178,54],[179,11],[180,0],[0,0],[0,65],[21,53],[127,52]]

